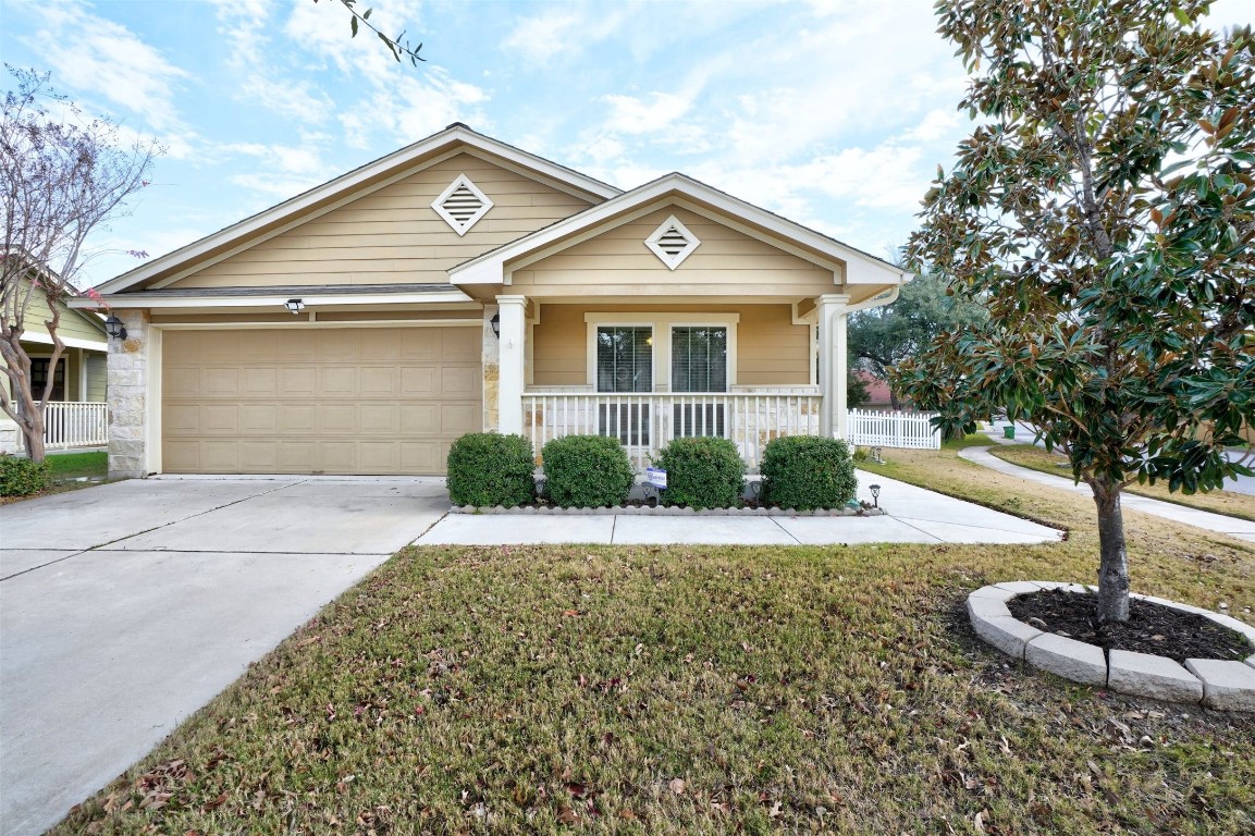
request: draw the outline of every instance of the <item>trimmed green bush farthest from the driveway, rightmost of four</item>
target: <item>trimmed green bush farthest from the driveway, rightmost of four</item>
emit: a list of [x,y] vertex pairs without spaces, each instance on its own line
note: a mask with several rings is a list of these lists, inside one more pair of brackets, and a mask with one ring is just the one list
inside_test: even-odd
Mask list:
[[773,438],[763,449],[759,469],[763,500],[782,508],[840,508],[855,498],[858,487],[850,448],[836,438]]

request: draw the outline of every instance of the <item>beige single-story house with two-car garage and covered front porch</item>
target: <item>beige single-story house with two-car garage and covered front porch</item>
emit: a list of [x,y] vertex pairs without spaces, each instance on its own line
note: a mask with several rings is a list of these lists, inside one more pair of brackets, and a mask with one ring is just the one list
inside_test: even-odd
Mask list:
[[[845,424],[900,269],[684,174],[620,191],[463,124],[99,287],[110,472],[439,474],[467,432],[638,464]],[[78,303],[77,303],[78,304]]]

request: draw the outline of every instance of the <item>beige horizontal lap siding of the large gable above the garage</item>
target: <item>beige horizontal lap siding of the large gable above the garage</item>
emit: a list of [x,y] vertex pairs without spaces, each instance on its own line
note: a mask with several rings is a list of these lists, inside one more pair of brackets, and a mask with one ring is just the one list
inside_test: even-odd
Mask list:
[[[466,174],[493,207],[458,236],[432,202]],[[589,203],[459,154],[205,267],[174,287],[447,282],[449,267]]]

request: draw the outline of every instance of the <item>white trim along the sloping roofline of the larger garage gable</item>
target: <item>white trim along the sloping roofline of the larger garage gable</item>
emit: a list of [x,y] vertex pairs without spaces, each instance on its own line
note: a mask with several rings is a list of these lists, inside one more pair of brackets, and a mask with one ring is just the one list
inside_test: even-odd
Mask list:
[[[562,166],[558,166],[547,159],[542,159],[541,157],[536,157],[535,154],[530,154],[525,151],[520,151],[518,148],[512,148],[507,144],[497,142],[496,139],[491,139],[489,137],[484,137],[483,134],[476,133],[474,131],[471,131],[464,126],[454,124],[437,134],[428,137],[427,139],[422,139],[412,146],[402,148],[400,151],[395,151],[388,154],[387,157],[380,157],[379,159],[366,166],[363,166],[361,168],[351,171],[346,174],[341,174],[340,177],[336,177],[333,181],[323,183],[321,186],[316,186],[315,188],[311,188],[310,191],[302,195],[297,195],[296,197],[292,197],[277,206],[265,210],[257,215],[254,215],[250,218],[245,218],[238,223],[228,226],[225,230],[213,232],[212,235],[208,235],[198,241],[193,241],[192,244],[181,247],[178,250],[174,250],[173,252],[153,259],[152,261],[139,267],[136,267],[129,272],[124,272],[123,275],[104,282],[103,285],[100,285],[99,290],[102,292],[117,292],[119,290],[125,290],[127,287],[133,287],[138,284],[142,284],[152,279],[159,272],[201,259],[206,256],[208,252],[212,252],[213,250],[225,246],[227,244],[238,241],[240,238],[247,237],[250,240],[247,241],[247,244],[235,247],[232,252],[238,252],[242,249],[251,247],[266,238],[265,237],[251,238],[250,236],[260,232],[271,223],[275,223],[276,221],[300,215],[300,217],[296,221],[289,222],[279,231],[267,233],[266,237],[274,237],[275,235],[279,235],[281,231],[286,231],[287,228],[291,228],[309,220],[312,220],[319,215],[324,215],[331,211],[331,208],[339,207],[346,202],[351,202],[353,200],[356,200],[363,195],[369,195],[370,192],[376,191],[378,188],[383,188],[384,185],[389,185],[392,182],[395,182],[397,180],[408,177],[409,174],[417,171],[422,171],[423,168],[428,168],[435,164],[437,162],[441,161],[441,158],[439,157],[427,158],[427,154],[434,154],[443,146],[454,146],[448,152],[446,152],[448,156],[454,156],[457,153],[463,153],[463,152],[471,153],[472,151],[479,151],[484,154],[488,154],[489,157],[498,157],[506,162],[520,166],[526,171],[537,172],[545,177],[551,178],[548,185],[560,188],[562,187],[560,185],[565,185],[565,188],[562,188],[562,191],[566,191],[567,193],[580,197],[581,200],[589,200],[589,201],[596,201],[597,198],[606,200],[622,193],[621,190],[617,190],[614,186],[609,186],[585,174],[580,174],[579,172],[563,168]],[[395,174],[394,177],[385,180],[384,183],[368,186],[369,181],[384,174],[384,172],[395,168],[397,166],[404,166],[404,171],[400,172],[399,174]],[[320,208],[315,215],[304,215],[309,210],[316,207],[323,201],[330,200],[333,198],[333,196],[336,195],[343,195],[344,197],[338,200],[333,207]],[[220,261],[223,257],[228,256],[227,255],[216,256],[215,260]],[[197,261],[196,266],[188,272],[195,270],[201,270],[213,262],[215,261],[205,261],[205,262]],[[187,272],[184,272],[183,275],[187,275]],[[169,281],[177,281],[177,279],[167,279],[163,281],[168,284]]]

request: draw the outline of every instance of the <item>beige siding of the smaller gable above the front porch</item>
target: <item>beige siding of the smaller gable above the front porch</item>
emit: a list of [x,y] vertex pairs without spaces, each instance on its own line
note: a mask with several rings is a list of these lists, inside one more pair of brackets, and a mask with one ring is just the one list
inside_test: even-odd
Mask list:
[[[702,242],[674,271],[645,246],[671,215]],[[828,269],[695,212],[666,207],[515,270],[513,291],[543,299],[710,292],[813,296],[838,289]]]

